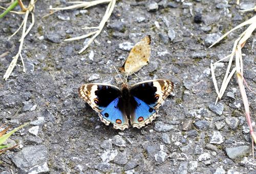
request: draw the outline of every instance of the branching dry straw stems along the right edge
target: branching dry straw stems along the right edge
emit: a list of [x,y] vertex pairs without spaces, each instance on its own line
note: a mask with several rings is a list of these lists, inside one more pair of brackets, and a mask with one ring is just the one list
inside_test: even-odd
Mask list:
[[[225,33],[220,39],[218,39],[210,47],[212,47],[217,42],[219,42],[221,39],[223,39],[225,36],[227,36],[230,32],[232,32],[232,31],[234,31],[234,30],[236,30],[238,28],[241,28],[241,27],[243,27],[245,25],[249,25],[248,28],[239,36],[238,39],[236,39],[236,41],[234,41],[232,53],[225,57],[225,58],[229,57],[229,62],[228,62],[228,66],[227,66],[227,71],[226,71],[225,77],[224,77],[224,79],[222,81],[222,85],[221,85],[220,91],[218,89],[217,81],[216,81],[216,78],[215,78],[214,64],[211,63],[210,64],[210,68],[211,68],[212,80],[214,81],[214,86],[215,86],[216,92],[218,94],[218,97],[217,97],[216,101],[221,99],[221,97],[223,96],[223,94],[224,94],[224,92],[225,92],[225,90],[227,88],[227,85],[228,85],[231,77],[233,76],[234,73],[236,73],[236,75],[237,75],[237,82],[238,82],[238,85],[239,85],[239,89],[240,89],[240,92],[241,92],[241,97],[242,97],[243,104],[244,104],[245,116],[246,116],[247,123],[248,123],[249,129],[250,129],[250,135],[252,137],[252,141],[254,141],[256,143],[256,136],[255,136],[255,134],[253,132],[253,128],[252,128],[252,125],[251,125],[249,102],[248,102],[248,98],[247,98],[247,95],[246,95],[245,86],[243,84],[243,82],[244,82],[246,84],[246,86],[248,87],[248,85],[247,85],[247,83],[246,83],[246,81],[245,81],[245,79],[243,77],[243,69],[244,69],[244,67],[243,67],[243,57],[242,57],[242,48],[244,47],[244,45],[246,43],[246,40],[248,38],[250,38],[252,32],[256,29],[256,16],[248,19],[244,23],[238,25],[237,27],[233,28],[229,32]],[[232,69],[232,71],[230,72],[230,68],[231,68],[231,65],[232,65],[232,60],[233,60],[233,56],[234,55],[235,55],[235,64],[236,65]],[[225,59],[225,58],[223,58],[223,59]],[[221,59],[221,60],[223,60],[223,59]],[[252,143],[252,147],[253,147],[253,143]],[[253,157],[254,157],[254,151],[253,151]]]

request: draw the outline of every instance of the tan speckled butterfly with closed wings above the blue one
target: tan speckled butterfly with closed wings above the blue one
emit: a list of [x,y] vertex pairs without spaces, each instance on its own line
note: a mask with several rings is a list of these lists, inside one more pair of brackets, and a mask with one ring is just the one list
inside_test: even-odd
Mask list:
[[148,35],[141,39],[131,50],[126,58],[123,66],[119,69],[121,73],[131,75],[139,71],[143,66],[146,66],[150,61],[151,54],[151,36]]

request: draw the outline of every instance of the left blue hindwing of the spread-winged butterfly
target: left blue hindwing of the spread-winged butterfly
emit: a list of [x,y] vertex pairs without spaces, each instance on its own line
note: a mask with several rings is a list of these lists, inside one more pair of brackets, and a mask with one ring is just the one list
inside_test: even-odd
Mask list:
[[118,101],[119,98],[113,100],[101,113],[99,113],[99,117],[106,125],[112,123],[114,128],[124,130],[129,127],[129,121],[119,110]]

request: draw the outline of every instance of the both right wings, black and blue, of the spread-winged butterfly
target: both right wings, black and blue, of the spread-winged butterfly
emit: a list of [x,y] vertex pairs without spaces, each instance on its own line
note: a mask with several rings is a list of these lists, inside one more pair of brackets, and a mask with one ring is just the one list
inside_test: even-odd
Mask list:
[[173,82],[162,79],[142,81],[132,85],[130,93],[137,102],[137,107],[131,115],[133,127],[140,128],[151,123],[157,117],[159,106],[173,88]]

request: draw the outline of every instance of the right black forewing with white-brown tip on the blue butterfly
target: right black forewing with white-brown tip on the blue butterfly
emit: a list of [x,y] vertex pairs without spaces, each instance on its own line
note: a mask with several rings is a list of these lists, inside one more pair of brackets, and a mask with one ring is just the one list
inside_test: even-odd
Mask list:
[[130,92],[132,96],[157,110],[163,100],[173,91],[173,88],[174,84],[169,80],[148,80],[132,85]]

